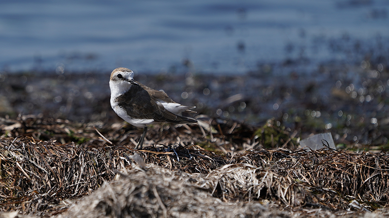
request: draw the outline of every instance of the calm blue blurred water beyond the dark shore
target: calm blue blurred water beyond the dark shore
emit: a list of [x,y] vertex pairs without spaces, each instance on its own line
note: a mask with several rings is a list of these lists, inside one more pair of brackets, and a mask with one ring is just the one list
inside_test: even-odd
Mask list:
[[345,51],[348,45],[334,48],[336,40],[362,48],[389,42],[388,0],[13,0],[0,5],[0,70],[11,72],[58,66],[183,72],[189,66],[241,74],[286,59],[308,58],[310,64],[357,59]]

